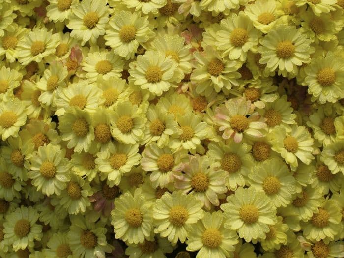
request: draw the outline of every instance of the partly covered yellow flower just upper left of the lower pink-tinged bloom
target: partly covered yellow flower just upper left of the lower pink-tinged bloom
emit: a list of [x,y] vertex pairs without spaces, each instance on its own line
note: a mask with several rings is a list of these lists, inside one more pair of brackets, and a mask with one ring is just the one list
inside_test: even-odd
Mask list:
[[187,151],[184,149],[173,153],[168,147],[159,148],[156,143],[150,143],[142,152],[141,166],[145,171],[152,171],[149,178],[154,188],[164,188],[174,181],[173,175],[187,160]]

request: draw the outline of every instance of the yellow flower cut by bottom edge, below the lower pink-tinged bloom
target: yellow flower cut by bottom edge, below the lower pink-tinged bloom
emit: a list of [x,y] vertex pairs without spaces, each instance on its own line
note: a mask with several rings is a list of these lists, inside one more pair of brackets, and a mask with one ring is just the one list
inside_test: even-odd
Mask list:
[[238,235],[235,231],[224,228],[224,217],[221,211],[206,212],[197,223],[190,225],[190,236],[186,250],[198,251],[196,257],[226,258],[235,250]]

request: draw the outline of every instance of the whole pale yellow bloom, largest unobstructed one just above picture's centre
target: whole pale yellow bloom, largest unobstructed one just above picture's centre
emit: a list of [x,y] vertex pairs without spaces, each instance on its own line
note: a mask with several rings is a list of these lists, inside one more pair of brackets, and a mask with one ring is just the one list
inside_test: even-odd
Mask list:
[[[173,78],[178,64],[171,56],[165,57],[158,51],[147,51],[137,57],[137,61],[129,63],[129,80],[142,89],[148,89],[152,94],[161,96],[178,78]],[[180,79],[181,80],[181,79]]]

